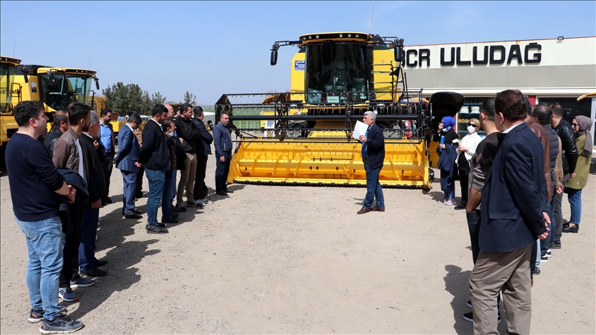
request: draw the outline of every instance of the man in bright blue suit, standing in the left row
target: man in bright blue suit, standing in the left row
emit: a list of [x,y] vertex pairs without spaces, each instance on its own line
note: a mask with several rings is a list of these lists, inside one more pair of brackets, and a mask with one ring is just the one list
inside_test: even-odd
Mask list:
[[139,128],[139,124],[141,124],[139,114],[128,116],[126,125],[123,125],[118,132],[118,154],[114,159],[124,181],[122,214],[127,219],[141,219],[143,217],[135,213],[135,187],[137,185],[137,172],[141,167],[139,164],[141,147],[133,130]]

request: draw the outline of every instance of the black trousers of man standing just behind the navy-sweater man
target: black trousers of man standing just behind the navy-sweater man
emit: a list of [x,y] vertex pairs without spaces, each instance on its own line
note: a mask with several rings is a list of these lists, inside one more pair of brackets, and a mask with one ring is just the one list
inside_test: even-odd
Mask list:
[[79,276],[79,245],[81,244],[83,208],[70,204],[68,211],[72,230],[70,234],[66,234],[66,243],[64,243],[64,264],[60,272],[60,288],[70,287],[70,280]]

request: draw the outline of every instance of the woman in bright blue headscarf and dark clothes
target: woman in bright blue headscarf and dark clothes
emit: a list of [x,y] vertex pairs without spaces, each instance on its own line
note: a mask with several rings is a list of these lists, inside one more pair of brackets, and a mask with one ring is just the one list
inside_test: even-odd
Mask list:
[[444,205],[457,205],[455,202],[455,159],[457,157],[457,145],[459,138],[453,130],[455,119],[451,116],[445,116],[439,123],[439,133],[433,136],[433,141],[441,141],[441,136],[445,136],[443,144],[439,144],[437,152],[439,161],[437,167],[441,170],[441,191],[444,193]]

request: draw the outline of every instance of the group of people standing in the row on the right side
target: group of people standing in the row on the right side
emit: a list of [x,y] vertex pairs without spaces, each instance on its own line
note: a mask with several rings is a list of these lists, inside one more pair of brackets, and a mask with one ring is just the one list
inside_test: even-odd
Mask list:
[[[472,312],[464,319],[474,323],[475,334],[498,334],[501,294],[508,332],[529,334],[533,276],[551,250],[561,249],[562,232],[579,231],[593,122],[578,115],[569,124],[563,116],[559,103],[533,106],[521,92],[506,90],[482,103],[479,119],[468,121],[461,141],[450,116],[433,137],[440,141],[444,200],[439,203],[466,210],[474,269]],[[563,193],[570,204],[568,222],[562,217]]]

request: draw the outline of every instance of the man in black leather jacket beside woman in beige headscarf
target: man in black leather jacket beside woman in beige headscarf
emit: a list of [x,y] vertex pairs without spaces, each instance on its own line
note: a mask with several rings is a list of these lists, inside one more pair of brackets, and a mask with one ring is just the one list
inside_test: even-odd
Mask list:
[[[565,187],[570,177],[575,176],[575,165],[577,164],[577,145],[575,145],[575,132],[571,125],[563,119],[563,108],[559,103],[550,103],[548,108],[553,112],[553,121],[550,125],[553,126],[555,132],[561,139],[562,148],[562,163],[563,163],[563,183]],[[555,221],[563,223],[562,212],[563,193],[555,192],[553,194],[553,210],[555,211]],[[553,246],[551,249],[561,249],[561,236],[563,233],[563,225],[558,225],[553,237]]]

